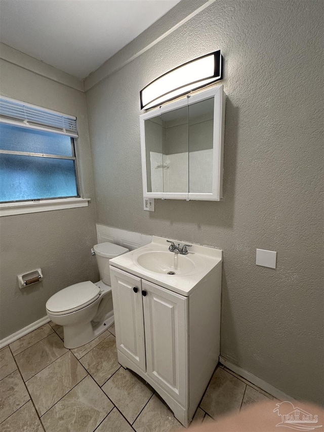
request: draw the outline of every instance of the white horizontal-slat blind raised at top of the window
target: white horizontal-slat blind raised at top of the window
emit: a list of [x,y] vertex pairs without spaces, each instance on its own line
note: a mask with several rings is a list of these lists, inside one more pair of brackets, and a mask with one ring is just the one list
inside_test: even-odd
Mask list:
[[0,122],[77,138],[76,117],[0,96]]

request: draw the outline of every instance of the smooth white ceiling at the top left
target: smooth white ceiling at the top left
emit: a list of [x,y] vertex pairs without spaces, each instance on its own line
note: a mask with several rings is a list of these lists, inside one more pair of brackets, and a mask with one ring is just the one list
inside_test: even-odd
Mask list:
[[0,0],[0,41],[85,78],[180,0]]

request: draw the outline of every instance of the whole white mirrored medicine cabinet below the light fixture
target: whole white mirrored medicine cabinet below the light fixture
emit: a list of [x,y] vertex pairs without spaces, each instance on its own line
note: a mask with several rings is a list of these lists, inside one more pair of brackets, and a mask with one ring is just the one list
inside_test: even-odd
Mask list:
[[144,198],[222,198],[223,86],[140,116]]

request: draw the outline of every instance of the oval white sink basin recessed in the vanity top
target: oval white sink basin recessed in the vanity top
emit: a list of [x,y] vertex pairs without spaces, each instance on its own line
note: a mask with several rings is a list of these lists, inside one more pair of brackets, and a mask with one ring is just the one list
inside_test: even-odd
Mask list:
[[195,269],[188,255],[169,251],[143,252],[136,258],[138,265],[149,271],[163,274],[188,274]]

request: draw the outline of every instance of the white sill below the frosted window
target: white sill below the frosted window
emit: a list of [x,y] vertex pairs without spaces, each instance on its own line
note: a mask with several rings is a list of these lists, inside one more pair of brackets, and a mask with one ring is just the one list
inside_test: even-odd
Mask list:
[[90,198],[61,198],[59,200],[24,201],[21,203],[0,204],[0,217],[24,213],[48,212],[51,210],[87,207]]

